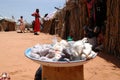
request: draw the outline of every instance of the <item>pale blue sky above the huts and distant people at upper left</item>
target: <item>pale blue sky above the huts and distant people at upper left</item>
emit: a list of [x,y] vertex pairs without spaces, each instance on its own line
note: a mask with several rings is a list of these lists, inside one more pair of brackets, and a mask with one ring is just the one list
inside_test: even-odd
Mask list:
[[0,16],[16,20],[23,16],[27,22],[31,22],[34,17],[31,14],[36,8],[39,9],[40,15],[55,11],[54,7],[63,7],[66,0],[0,0]]

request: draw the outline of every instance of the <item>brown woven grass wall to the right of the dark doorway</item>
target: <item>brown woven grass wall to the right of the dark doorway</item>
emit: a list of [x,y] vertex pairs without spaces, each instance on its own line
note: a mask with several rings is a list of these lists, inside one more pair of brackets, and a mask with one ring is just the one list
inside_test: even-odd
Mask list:
[[105,51],[120,57],[120,0],[107,0]]

